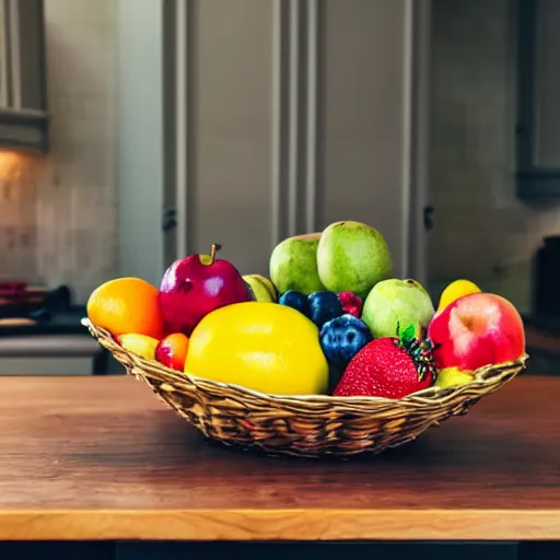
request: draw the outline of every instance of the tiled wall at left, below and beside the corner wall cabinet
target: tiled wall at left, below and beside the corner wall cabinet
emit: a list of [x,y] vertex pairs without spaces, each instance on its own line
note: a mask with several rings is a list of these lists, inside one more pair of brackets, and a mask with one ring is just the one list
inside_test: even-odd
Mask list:
[[78,302],[117,270],[116,9],[45,0],[50,150],[0,154],[0,275]]

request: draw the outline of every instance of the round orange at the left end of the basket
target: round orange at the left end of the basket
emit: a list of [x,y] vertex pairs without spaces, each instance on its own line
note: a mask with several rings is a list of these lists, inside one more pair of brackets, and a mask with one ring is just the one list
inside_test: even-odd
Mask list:
[[113,335],[163,336],[159,290],[141,278],[116,278],[101,284],[90,295],[86,311],[95,326]]

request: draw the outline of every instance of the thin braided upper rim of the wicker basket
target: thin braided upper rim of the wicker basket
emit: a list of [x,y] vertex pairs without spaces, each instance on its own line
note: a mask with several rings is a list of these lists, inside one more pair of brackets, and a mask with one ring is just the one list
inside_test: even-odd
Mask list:
[[[97,339],[97,342],[103,346],[106,350],[112,352],[109,345],[118,346],[118,343],[113,339],[113,335],[105,328],[100,327],[93,324],[88,317],[83,317],[81,319],[81,324],[89,328],[91,335]],[[107,341],[110,341],[107,343]],[[158,369],[170,377],[174,377],[177,381],[187,380],[190,381],[195,386],[199,387],[200,384],[214,386],[217,389],[234,389],[241,394],[248,394],[254,397],[272,399],[277,402],[282,402],[285,405],[302,405],[305,402],[316,402],[316,404],[325,404],[330,406],[336,406],[338,404],[355,404],[362,406],[363,404],[385,404],[394,406],[396,402],[402,405],[418,405],[418,404],[430,404],[438,401],[442,406],[447,401],[453,400],[455,397],[460,396],[463,393],[470,393],[474,387],[483,388],[492,383],[492,381],[500,376],[501,371],[504,369],[518,368],[523,370],[526,365],[526,362],[529,355],[524,352],[517,360],[513,360],[510,362],[504,362],[500,364],[488,364],[480,369],[478,369],[474,376],[472,381],[466,383],[464,385],[456,385],[452,387],[441,388],[436,385],[432,385],[425,389],[419,390],[417,393],[412,393],[401,398],[388,398],[388,397],[380,397],[380,396],[335,396],[335,395],[282,395],[282,394],[273,394],[273,393],[262,393],[260,390],[252,389],[249,387],[245,387],[243,385],[237,385],[235,383],[224,383],[220,381],[209,380],[205,377],[200,377],[194,375],[188,372],[180,372],[178,370],[173,370],[167,368],[166,365],[154,362],[153,360],[148,360],[141,355],[135,354],[129,350],[118,346],[119,351],[127,354],[129,360],[137,366],[137,369],[141,372],[145,366],[153,368],[154,363]]]

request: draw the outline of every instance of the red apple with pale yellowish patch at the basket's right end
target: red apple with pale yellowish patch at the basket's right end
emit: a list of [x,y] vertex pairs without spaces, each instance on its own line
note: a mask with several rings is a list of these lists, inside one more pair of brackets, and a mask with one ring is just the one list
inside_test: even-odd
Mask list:
[[435,365],[477,370],[517,360],[525,352],[523,320],[514,305],[492,293],[464,295],[433,316],[428,336]]

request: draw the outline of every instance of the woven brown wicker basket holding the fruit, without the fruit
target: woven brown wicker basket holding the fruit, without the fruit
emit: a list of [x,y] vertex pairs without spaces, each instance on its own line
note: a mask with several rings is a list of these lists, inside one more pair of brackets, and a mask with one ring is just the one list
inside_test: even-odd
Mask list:
[[126,369],[207,438],[228,445],[299,457],[376,454],[415,440],[517,375],[527,355],[482,368],[468,385],[430,387],[401,399],[265,395],[187,375],[122,349],[106,330],[83,320]]

